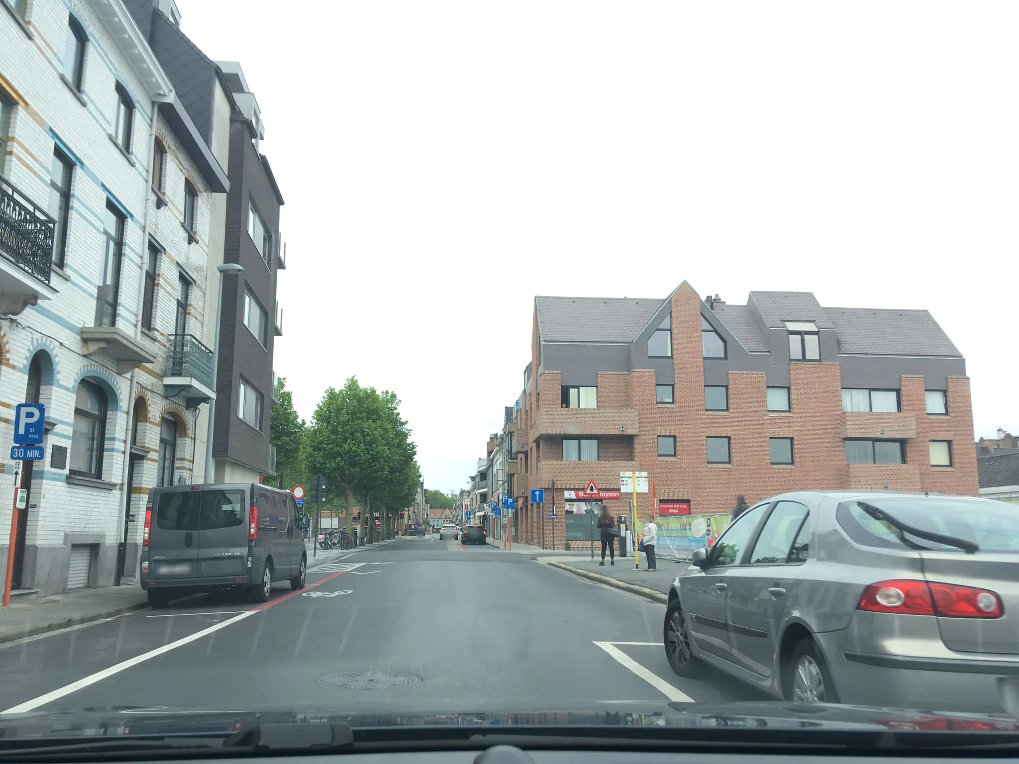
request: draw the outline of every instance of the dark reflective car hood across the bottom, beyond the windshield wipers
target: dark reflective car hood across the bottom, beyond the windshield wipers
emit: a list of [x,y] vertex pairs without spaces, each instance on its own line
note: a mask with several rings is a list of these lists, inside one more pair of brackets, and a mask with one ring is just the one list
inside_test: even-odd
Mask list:
[[370,727],[499,725],[675,726],[753,729],[967,730],[1019,731],[1006,714],[935,713],[922,710],[848,705],[805,705],[781,701],[750,703],[669,703],[576,710],[469,710],[453,713],[364,714],[334,709],[302,711],[187,711],[159,707],[90,708],[82,711],[32,711],[0,714],[0,738],[71,735],[231,733],[265,723],[329,722],[354,729]]

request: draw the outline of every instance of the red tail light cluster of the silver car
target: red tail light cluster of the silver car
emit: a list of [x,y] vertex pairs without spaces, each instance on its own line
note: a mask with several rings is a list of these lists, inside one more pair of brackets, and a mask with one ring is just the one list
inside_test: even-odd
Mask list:
[[1002,598],[986,589],[940,582],[893,580],[863,590],[858,610],[952,618],[1000,618]]

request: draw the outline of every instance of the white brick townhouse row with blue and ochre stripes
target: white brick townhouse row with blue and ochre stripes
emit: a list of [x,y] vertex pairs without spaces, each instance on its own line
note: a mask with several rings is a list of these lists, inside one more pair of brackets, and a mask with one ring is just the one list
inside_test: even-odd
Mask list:
[[13,406],[45,403],[47,420],[15,588],[132,576],[148,489],[192,481],[226,190],[121,0],[0,0],[0,576]]

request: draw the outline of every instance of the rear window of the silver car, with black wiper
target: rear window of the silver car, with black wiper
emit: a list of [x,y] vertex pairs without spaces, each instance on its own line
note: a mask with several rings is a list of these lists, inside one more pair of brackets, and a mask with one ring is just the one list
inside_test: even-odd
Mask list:
[[[878,496],[865,501],[904,525],[971,541],[983,552],[1019,552],[1019,506],[1015,504],[961,496]],[[864,546],[961,553],[958,547],[912,536],[871,517],[858,501],[840,504],[836,519],[853,541]]]

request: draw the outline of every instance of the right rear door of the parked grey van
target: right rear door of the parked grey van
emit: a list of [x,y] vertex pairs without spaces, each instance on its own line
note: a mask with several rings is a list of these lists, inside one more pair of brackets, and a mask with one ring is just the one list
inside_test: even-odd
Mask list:
[[245,576],[248,501],[243,487],[204,488],[199,530],[198,576]]

